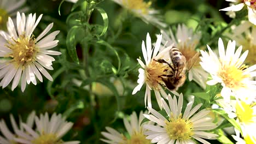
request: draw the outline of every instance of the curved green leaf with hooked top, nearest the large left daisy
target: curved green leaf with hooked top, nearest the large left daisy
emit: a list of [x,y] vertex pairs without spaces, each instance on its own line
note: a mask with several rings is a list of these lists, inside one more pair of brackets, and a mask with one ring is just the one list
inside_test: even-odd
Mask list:
[[73,59],[74,62],[79,64],[79,59],[77,56],[77,49],[75,48],[75,34],[83,32],[83,28],[80,26],[73,26],[67,34],[67,50],[69,56]]

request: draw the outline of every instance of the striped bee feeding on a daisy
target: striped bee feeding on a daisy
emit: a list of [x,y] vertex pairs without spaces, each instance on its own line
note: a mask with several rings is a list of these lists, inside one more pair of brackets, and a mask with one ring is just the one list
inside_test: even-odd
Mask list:
[[162,82],[164,82],[164,84],[161,82],[159,82],[159,84],[163,87],[168,88],[170,91],[177,91],[179,87],[183,86],[187,78],[186,74],[197,61],[197,58],[199,57],[199,52],[197,52],[191,59],[189,59],[188,62],[185,56],[183,56],[176,47],[173,47],[170,50],[169,54],[172,64],[165,61],[165,59],[154,59],[159,63],[166,63],[170,68],[164,70],[166,74],[158,76],[161,78]]

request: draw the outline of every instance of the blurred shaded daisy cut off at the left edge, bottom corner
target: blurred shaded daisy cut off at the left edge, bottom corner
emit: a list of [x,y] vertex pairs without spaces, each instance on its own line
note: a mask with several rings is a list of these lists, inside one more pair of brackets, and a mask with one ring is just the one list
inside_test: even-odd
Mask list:
[[[30,128],[33,127],[34,124],[34,117],[36,116],[36,112],[32,111],[30,115],[27,117],[26,125]],[[2,119],[0,121],[0,131],[3,134],[4,137],[0,135],[0,143],[1,144],[9,144],[9,143],[17,143],[15,141],[15,138],[17,137],[17,134],[19,131],[24,131],[24,128],[20,125],[18,127],[18,124],[15,122],[15,119],[13,115],[10,115],[10,122],[11,126],[13,127],[14,134],[8,129],[7,125],[5,124],[4,120]],[[20,118],[20,124],[22,123],[22,120]]]

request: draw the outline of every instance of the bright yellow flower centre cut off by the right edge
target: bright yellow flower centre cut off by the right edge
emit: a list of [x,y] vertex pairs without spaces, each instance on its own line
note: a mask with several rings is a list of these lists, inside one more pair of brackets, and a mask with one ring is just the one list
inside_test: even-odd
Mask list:
[[236,103],[236,115],[240,122],[245,124],[256,122],[255,121],[256,115],[254,114],[252,109],[254,105],[246,104],[243,101]]

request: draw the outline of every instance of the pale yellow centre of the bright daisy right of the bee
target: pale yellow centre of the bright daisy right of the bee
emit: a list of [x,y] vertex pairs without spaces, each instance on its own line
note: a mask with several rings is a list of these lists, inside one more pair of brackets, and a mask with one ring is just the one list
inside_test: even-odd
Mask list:
[[249,75],[243,74],[243,70],[246,68],[248,68],[248,66],[245,64],[241,65],[239,68],[235,65],[225,64],[220,68],[218,75],[225,83],[226,87],[237,89],[245,87],[245,83],[243,83],[242,80],[249,77]]

